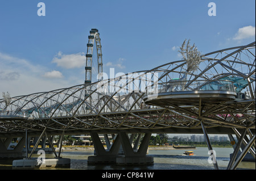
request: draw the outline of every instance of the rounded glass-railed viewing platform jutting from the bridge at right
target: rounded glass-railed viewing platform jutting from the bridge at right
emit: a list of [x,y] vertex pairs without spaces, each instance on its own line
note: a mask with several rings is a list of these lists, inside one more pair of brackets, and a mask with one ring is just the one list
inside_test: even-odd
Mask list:
[[[187,86],[187,82],[170,81],[161,83],[156,95],[147,95],[143,99],[146,104],[154,106],[168,106],[171,104],[177,106],[198,106],[199,103],[209,106],[223,101],[235,100],[237,96],[232,81],[195,81],[189,84],[189,86]],[[170,91],[174,86],[176,86],[176,90]],[[182,89],[182,87],[185,87],[185,89]],[[157,96],[157,98],[151,99],[152,96]]]

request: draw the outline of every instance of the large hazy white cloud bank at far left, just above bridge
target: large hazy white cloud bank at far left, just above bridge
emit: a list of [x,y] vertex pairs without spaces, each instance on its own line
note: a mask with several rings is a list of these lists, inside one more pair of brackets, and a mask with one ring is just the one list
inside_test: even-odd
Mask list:
[[[42,75],[54,75],[55,78],[59,76],[59,79]],[[73,86],[73,81],[60,79],[60,75],[62,74],[58,71],[47,71],[42,65],[0,52],[0,99],[2,92],[18,96]]]

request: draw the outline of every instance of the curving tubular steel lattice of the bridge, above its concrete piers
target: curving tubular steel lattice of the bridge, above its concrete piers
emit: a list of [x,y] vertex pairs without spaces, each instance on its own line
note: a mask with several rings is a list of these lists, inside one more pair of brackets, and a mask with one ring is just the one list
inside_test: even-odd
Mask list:
[[[15,96],[7,107],[0,99],[0,133],[44,128],[189,132],[201,129],[202,120],[206,128],[255,129],[255,42],[204,54],[196,71],[186,72],[186,66],[184,60],[172,61],[112,79]],[[191,97],[200,91],[213,93]],[[168,92],[171,102],[159,99]]]

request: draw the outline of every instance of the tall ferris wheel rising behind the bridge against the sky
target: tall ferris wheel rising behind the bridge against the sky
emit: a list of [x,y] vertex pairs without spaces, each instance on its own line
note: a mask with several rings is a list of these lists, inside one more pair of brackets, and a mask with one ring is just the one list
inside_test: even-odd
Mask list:
[[92,28],[87,44],[85,85],[98,81],[97,75],[102,73],[102,65],[100,33],[96,28]]

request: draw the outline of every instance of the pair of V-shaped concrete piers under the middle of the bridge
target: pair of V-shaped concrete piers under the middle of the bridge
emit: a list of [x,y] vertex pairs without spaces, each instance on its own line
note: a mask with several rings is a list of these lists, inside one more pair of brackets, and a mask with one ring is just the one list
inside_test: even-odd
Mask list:
[[[108,142],[108,138],[105,136],[107,148],[104,148],[98,133],[90,133],[95,149],[95,155],[88,157],[89,164],[95,163],[117,163],[118,165],[151,165],[154,163],[153,157],[148,157],[147,149],[150,142],[151,134],[146,133],[141,140],[141,134],[139,134],[137,140],[133,146],[133,138],[135,134],[131,134],[130,137],[126,132],[119,132],[115,134],[113,138],[113,144]],[[123,153],[120,153],[122,148]],[[139,149],[138,149],[139,148]]]

